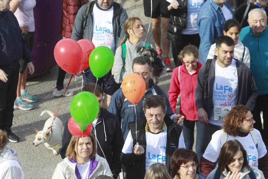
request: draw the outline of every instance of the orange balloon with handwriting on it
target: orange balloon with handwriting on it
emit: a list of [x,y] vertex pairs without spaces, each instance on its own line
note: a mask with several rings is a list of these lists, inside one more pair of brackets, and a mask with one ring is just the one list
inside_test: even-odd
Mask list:
[[127,75],[122,81],[123,95],[131,103],[137,104],[143,97],[145,89],[144,79],[135,73]]

